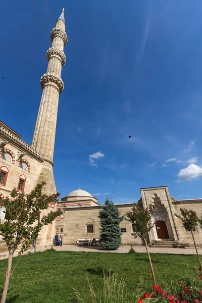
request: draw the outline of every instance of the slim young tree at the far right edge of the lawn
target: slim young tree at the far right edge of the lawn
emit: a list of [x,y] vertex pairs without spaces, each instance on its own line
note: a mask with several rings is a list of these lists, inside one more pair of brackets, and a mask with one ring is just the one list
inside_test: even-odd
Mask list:
[[199,222],[199,218],[197,217],[196,212],[194,212],[192,210],[187,210],[187,209],[183,208],[183,209],[180,209],[180,212],[181,212],[181,216],[176,215],[176,214],[175,214],[175,216],[182,221],[184,228],[188,228],[191,232],[196,254],[198,257],[199,268],[201,269],[201,260],[198,255],[198,249],[196,247],[196,243],[195,243],[195,239],[194,239],[194,235],[193,235],[193,231],[196,228],[197,223]]

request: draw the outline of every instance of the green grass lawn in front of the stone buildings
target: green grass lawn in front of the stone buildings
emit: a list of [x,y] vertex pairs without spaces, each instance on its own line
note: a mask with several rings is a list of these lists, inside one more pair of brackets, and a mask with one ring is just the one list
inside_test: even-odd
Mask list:
[[[13,259],[13,267],[18,257]],[[165,289],[171,282],[195,276],[195,255],[151,254],[157,283]],[[0,287],[4,286],[7,260],[0,261]],[[111,269],[126,280],[126,302],[135,302],[138,284],[151,289],[151,274],[146,254],[45,251],[21,257],[11,278],[8,303],[76,303],[73,288],[85,298],[86,276],[95,290],[102,288],[103,270]],[[88,300],[86,298],[85,302]]]

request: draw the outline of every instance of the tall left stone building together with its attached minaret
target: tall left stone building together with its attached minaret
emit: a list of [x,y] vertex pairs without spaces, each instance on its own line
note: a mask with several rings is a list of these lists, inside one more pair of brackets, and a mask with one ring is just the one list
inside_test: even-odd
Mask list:
[[[56,135],[59,95],[64,89],[61,79],[62,67],[65,64],[64,46],[67,44],[64,10],[51,32],[52,46],[48,49],[47,72],[41,77],[42,96],[34,130],[32,145],[9,126],[0,122],[0,195],[8,196],[16,187],[19,191],[30,192],[37,183],[45,181],[43,193],[56,193],[53,174],[53,155]],[[55,211],[56,204],[50,203],[48,210],[41,215]],[[0,206],[1,222],[5,220],[4,208]],[[44,226],[38,242],[40,245],[52,243],[55,234],[55,222]],[[0,251],[2,240],[0,239]]]

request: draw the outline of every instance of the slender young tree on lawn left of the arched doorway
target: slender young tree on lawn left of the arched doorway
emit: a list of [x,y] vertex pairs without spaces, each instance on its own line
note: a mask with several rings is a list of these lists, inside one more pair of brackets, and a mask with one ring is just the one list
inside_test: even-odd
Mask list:
[[132,224],[133,227],[132,235],[135,238],[137,236],[140,237],[145,244],[149,265],[151,268],[151,274],[154,280],[154,285],[157,285],[153,265],[148,251],[147,240],[146,240],[149,231],[155,225],[155,223],[151,223],[152,214],[153,214],[153,206],[151,204],[149,205],[148,208],[133,207],[132,211],[126,213],[127,216],[126,220],[128,220]]

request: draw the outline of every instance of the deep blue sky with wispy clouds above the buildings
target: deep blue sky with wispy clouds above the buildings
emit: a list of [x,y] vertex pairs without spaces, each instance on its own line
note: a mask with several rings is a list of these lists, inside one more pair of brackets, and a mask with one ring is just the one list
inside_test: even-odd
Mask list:
[[54,155],[61,197],[81,186],[100,203],[106,193],[129,203],[139,188],[168,185],[177,199],[201,198],[202,2],[46,3],[52,18],[43,0],[1,5],[1,120],[31,144],[52,19],[65,7]]

